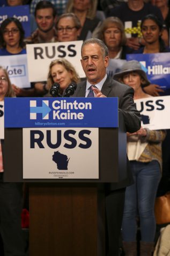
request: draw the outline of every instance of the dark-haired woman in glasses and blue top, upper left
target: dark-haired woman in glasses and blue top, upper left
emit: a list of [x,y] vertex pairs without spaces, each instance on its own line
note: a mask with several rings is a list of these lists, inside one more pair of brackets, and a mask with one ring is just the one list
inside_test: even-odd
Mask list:
[[0,56],[25,54],[22,24],[16,18],[5,19],[0,27]]

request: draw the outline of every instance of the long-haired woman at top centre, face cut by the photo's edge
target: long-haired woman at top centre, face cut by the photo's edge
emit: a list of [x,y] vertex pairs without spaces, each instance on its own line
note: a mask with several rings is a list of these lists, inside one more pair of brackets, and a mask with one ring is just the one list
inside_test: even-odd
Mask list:
[[101,24],[101,20],[95,17],[97,0],[69,0],[65,12],[73,12],[80,20],[82,30],[79,40],[95,37],[95,29]]

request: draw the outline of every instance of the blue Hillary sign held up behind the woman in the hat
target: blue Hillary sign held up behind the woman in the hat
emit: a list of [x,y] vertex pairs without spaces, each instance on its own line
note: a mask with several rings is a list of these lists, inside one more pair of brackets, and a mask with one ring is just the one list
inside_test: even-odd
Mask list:
[[146,72],[152,84],[160,85],[162,89],[170,88],[170,52],[127,54],[127,60],[137,60]]

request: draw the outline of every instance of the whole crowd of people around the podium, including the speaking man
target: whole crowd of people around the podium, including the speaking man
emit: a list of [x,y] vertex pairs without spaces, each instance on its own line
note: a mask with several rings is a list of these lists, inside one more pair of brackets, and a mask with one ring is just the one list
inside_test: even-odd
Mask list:
[[[4,19],[0,26],[0,57],[17,59],[18,54],[27,54],[29,44],[82,40],[82,48],[77,51],[81,52],[85,75],[80,79],[66,58],[53,58],[46,81],[31,82],[31,88],[21,88],[12,84],[12,78],[0,63],[0,101],[5,97],[51,96],[54,82],[60,84],[60,95],[71,82],[76,82],[75,97],[119,97],[129,161],[127,178],[106,185],[106,255],[120,255],[122,237],[125,255],[136,256],[139,225],[140,255],[151,256],[156,234],[154,201],[161,176],[170,179],[169,130],[141,127],[134,100],[168,95],[169,91],[149,81],[141,64],[137,60],[127,61],[127,54],[170,52],[168,1],[4,0],[2,6],[24,4],[29,4],[31,32],[25,37],[19,19]],[[4,256],[24,256],[20,225],[23,184],[3,182],[4,143],[0,140],[0,233]],[[168,185],[164,192],[169,190]]]

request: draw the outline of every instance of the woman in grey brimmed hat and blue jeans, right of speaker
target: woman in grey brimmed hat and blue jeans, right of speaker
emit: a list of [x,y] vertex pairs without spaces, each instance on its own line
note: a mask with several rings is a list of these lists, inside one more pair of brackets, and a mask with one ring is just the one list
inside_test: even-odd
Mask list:
[[[134,88],[134,100],[151,97],[141,87],[150,81],[136,60],[127,61],[114,79]],[[127,133],[127,154],[134,184],[125,191],[122,236],[126,256],[137,255],[137,213],[141,228],[140,255],[151,256],[154,250],[154,201],[162,169],[161,143],[165,136],[165,130],[143,127],[136,133]]]

